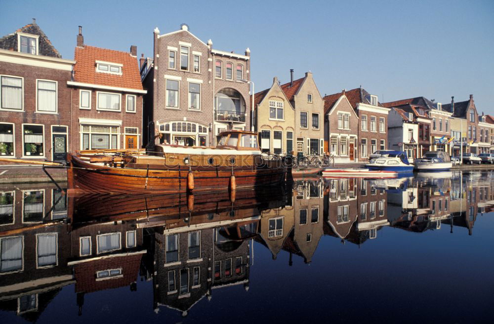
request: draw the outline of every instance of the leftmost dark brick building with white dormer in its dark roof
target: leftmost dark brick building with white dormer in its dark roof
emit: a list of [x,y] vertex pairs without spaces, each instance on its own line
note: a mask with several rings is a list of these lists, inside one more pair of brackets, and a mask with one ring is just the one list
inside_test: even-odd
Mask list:
[[65,161],[74,63],[34,20],[0,38],[0,155]]

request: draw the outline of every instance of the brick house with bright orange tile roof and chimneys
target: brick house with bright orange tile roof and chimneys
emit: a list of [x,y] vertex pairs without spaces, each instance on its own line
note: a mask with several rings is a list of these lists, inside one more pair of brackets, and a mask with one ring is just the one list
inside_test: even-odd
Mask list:
[[142,89],[137,48],[87,46],[79,27],[74,58],[71,151],[136,149],[142,145]]

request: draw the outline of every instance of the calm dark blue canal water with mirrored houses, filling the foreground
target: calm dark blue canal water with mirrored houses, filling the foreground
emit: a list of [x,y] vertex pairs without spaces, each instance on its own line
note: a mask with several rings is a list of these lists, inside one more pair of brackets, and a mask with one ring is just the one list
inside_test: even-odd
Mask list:
[[0,188],[0,323],[492,323],[494,170],[195,195]]

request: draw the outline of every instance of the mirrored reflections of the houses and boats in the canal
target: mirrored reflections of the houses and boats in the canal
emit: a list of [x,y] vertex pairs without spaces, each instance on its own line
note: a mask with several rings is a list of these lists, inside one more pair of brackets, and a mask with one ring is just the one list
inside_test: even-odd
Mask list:
[[[148,282],[150,309],[186,316],[200,300],[226,291],[220,288],[248,290],[254,245],[263,245],[273,259],[288,252],[292,265],[311,263],[325,236],[361,245],[379,238],[384,227],[416,233],[459,227],[472,235],[478,213],[494,205],[491,182],[479,181],[491,177],[488,172],[453,172],[448,179],[315,177],[195,195],[67,197],[51,184],[5,187],[0,317],[41,321],[50,303],[59,309],[77,303],[84,316],[92,311],[84,307],[92,293],[128,287],[142,298],[137,286]],[[69,285],[73,300],[57,298]]]

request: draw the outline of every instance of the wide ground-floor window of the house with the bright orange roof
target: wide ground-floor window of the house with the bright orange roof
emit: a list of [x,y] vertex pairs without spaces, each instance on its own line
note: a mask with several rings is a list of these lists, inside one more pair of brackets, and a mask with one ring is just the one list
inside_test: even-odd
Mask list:
[[118,149],[118,126],[81,125],[82,150]]

